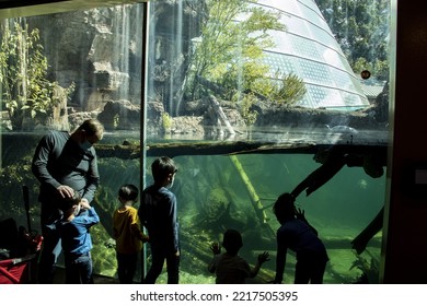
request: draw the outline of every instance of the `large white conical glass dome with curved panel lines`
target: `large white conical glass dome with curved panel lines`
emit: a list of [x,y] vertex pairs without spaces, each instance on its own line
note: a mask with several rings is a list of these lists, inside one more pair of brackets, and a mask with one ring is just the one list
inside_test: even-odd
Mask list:
[[265,62],[276,71],[302,79],[307,93],[300,106],[354,110],[369,105],[330,26],[313,0],[259,0],[254,5],[281,12],[286,31],[272,31],[275,47]]

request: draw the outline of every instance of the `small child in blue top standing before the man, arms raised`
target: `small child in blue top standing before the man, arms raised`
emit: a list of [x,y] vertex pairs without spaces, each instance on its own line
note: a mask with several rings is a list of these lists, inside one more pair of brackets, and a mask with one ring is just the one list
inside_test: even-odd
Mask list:
[[61,236],[61,246],[66,261],[67,284],[91,284],[92,279],[92,238],[89,229],[100,222],[93,207],[81,201],[79,192],[62,199],[62,217],[57,224]]

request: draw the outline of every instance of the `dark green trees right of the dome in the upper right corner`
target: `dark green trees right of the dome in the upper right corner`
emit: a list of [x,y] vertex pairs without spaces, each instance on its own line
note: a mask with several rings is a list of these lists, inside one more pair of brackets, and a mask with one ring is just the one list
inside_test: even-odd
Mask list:
[[389,78],[389,0],[316,0],[354,71]]

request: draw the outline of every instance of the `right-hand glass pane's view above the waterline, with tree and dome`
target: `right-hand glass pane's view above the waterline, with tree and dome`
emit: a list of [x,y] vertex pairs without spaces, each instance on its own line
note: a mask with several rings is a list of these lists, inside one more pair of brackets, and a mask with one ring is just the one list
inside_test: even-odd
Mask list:
[[[348,35],[365,25],[336,25],[336,20],[350,23],[358,17],[343,13],[345,8],[331,1],[249,2],[226,1],[221,8],[214,1],[151,3],[157,17],[150,22],[148,137],[255,140],[279,129],[292,142],[302,129],[307,142],[319,142],[318,133],[327,136],[325,125],[344,125],[366,131],[353,142],[386,142],[386,105],[376,102],[381,90],[388,96],[386,79],[379,72],[362,80],[359,69],[372,70],[386,60],[386,52],[372,59],[376,50],[368,42],[382,39],[383,46],[388,28],[378,37],[357,37],[365,45],[349,58]],[[381,24],[369,21],[372,27],[386,22],[386,3],[378,2],[378,11],[363,3],[372,17],[381,14]],[[168,23],[161,22],[165,14]],[[269,23],[255,25],[259,15]],[[374,96],[369,94],[373,86]]]

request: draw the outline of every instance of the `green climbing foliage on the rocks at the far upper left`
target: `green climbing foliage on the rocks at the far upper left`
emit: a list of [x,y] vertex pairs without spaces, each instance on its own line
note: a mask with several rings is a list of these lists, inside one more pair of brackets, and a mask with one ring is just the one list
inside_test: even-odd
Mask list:
[[57,102],[58,85],[46,79],[47,59],[38,44],[38,30],[30,32],[24,22],[4,21],[0,25],[0,82],[2,107],[9,113],[12,128],[21,129],[24,116],[46,116]]

